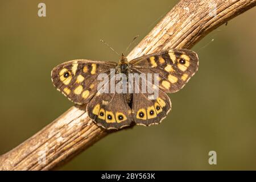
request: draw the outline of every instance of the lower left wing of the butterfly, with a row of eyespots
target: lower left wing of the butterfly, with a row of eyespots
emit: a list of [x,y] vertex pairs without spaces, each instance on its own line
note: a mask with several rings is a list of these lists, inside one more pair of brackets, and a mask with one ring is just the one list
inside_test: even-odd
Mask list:
[[132,114],[127,104],[127,95],[102,93],[102,90],[97,92],[86,107],[89,118],[105,129],[121,129],[129,126],[132,122]]

